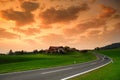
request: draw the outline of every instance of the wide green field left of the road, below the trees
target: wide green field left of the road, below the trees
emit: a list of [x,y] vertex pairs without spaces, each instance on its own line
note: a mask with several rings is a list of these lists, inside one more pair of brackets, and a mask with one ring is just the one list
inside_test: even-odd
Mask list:
[[94,59],[96,57],[91,53],[79,52],[67,55],[2,55],[0,56],[0,73],[65,66]]

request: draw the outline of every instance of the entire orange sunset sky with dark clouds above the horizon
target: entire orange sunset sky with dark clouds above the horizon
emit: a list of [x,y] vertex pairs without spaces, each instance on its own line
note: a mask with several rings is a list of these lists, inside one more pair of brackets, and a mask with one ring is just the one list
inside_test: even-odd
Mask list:
[[120,0],[0,0],[0,53],[120,42]]

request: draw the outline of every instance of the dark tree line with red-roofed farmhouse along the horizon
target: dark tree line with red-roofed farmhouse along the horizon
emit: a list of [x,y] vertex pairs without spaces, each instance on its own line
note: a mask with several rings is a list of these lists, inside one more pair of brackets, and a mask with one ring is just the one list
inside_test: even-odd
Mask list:
[[27,51],[9,51],[9,55],[24,55],[24,54],[67,54],[69,52],[73,52],[73,51],[79,51],[75,48],[70,48],[68,46],[50,46],[49,49],[47,50],[33,50],[31,52],[27,52]]

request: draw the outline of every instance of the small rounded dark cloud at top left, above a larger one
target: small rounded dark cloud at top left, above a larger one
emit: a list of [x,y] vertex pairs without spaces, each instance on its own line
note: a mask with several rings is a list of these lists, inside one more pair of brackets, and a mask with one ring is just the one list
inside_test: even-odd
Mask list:
[[23,2],[21,7],[26,11],[26,12],[31,12],[36,10],[39,7],[38,3],[33,3],[33,2]]

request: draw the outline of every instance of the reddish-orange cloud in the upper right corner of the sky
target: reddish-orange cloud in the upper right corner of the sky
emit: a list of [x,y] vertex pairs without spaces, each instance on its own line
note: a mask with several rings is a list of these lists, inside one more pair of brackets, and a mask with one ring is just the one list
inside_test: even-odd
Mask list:
[[111,17],[116,12],[114,8],[111,8],[105,5],[101,5],[100,7],[102,9],[102,13],[99,15],[100,18]]

